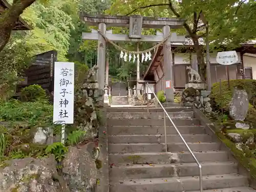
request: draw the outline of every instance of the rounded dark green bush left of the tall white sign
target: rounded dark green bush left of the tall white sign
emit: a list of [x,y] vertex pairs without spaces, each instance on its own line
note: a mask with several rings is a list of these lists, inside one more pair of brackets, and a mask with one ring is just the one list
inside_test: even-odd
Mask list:
[[21,91],[21,99],[24,102],[46,100],[46,91],[38,84],[28,86]]

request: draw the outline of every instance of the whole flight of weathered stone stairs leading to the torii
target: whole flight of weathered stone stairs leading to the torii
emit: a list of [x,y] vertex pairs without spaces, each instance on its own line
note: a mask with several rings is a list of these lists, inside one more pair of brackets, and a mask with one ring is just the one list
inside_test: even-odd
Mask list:
[[[166,109],[202,165],[204,191],[256,192],[246,171],[198,111]],[[166,117],[168,152],[164,152],[162,109],[108,108],[110,192],[199,191],[199,168]]]

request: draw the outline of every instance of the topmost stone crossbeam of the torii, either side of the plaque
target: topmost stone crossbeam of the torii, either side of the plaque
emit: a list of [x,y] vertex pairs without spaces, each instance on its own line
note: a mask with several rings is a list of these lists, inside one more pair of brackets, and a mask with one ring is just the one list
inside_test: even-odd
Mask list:
[[[131,15],[141,17],[140,15]],[[129,27],[130,16],[111,16],[111,15],[91,15],[81,13],[82,22],[90,26],[98,26],[99,23],[105,23],[107,27]],[[181,28],[185,20],[166,17],[143,17],[142,28],[161,29],[163,26],[170,26],[171,29]]]

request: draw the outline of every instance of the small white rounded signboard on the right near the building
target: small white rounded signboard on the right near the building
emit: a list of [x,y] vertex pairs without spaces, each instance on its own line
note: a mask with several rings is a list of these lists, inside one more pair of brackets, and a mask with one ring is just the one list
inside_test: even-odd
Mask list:
[[221,65],[229,66],[238,62],[238,54],[236,51],[218,52],[216,60]]

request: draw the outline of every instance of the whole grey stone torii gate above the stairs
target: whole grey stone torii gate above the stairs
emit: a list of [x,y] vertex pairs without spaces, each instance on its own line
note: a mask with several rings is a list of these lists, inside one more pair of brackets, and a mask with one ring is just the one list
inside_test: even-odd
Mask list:
[[[184,42],[185,36],[179,36],[176,33],[170,35],[170,29],[177,29],[183,26],[184,20],[177,18],[153,18],[138,15],[133,16],[109,16],[109,15],[89,15],[81,14],[82,22],[89,26],[98,26],[98,30],[111,41],[133,41],[133,42],[161,42],[165,38],[168,39],[163,44],[164,54],[164,80],[169,82],[171,89],[166,83],[165,94],[167,102],[174,102],[173,93],[173,62],[171,45],[175,42]],[[112,30],[106,31],[106,27],[129,27],[129,35],[112,34]],[[142,35],[142,28],[162,29],[162,33],[157,35]],[[92,33],[82,33],[84,40],[98,40],[97,65],[99,89],[104,90],[105,75],[108,79],[109,71],[105,73],[105,50],[106,42],[104,37],[98,31],[92,30]],[[108,80],[106,80],[108,84]]]

